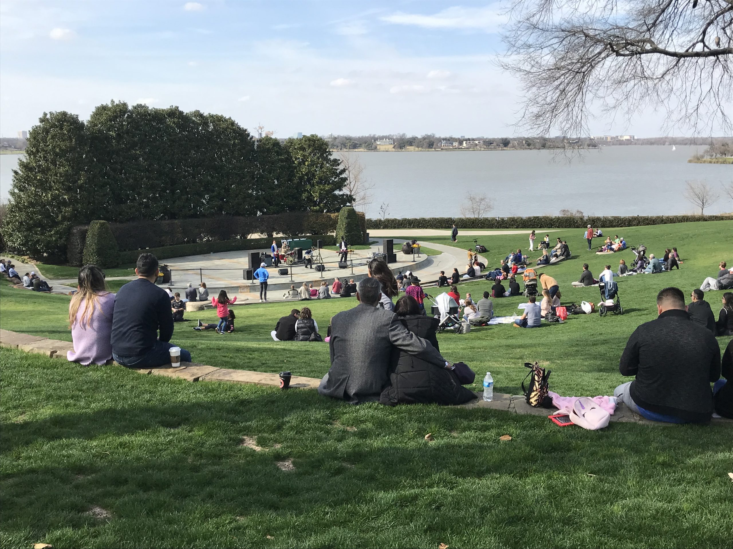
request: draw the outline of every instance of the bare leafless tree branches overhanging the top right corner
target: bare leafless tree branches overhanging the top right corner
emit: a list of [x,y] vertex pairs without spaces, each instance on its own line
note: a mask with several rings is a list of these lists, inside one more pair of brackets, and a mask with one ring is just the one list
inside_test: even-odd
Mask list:
[[732,129],[733,0],[513,0],[501,67],[529,135],[589,135],[595,113],[665,109],[666,129]]

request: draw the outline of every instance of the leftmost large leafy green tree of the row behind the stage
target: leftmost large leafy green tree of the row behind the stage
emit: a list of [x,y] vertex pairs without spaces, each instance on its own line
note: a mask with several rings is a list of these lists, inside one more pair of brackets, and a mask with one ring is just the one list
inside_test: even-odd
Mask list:
[[3,220],[8,250],[65,258],[70,228],[97,217],[94,170],[84,122],[65,111],[43,113],[13,170]]

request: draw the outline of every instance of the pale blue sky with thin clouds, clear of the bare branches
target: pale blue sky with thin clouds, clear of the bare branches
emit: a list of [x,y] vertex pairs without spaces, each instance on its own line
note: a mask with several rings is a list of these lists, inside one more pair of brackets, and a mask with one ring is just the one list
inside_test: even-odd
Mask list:
[[498,1],[0,0],[0,134],[114,99],[276,137],[514,135],[520,90],[493,64],[503,21]]

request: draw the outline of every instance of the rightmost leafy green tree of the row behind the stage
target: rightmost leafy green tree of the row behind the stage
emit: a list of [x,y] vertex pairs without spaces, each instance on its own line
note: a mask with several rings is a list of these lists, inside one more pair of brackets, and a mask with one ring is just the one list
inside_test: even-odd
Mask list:
[[295,183],[301,192],[303,209],[311,212],[338,212],[351,196],[342,193],[346,184],[344,168],[318,135],[287,139],[285,148],[295,163]]

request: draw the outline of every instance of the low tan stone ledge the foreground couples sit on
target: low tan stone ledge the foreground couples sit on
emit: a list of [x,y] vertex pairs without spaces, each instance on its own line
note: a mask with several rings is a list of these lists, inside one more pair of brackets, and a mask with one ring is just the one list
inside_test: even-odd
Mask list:
[[[17,348],[29,353],[42,354],[49,358],[66,359],[67,351],[73,350],[73,344],[68,341],[51,340],[46,337],[10,332],[0,329],[0,346]],[[117,363],[114,365],[118,366]],[[224,381],[226,383],[255,384],[263,386],[280,386],[280,378],[276,373],[253,372],[250,370],[232,370],[197,364],[195,362],[181,362],[180,367],[172,368],[169,365],[155,368],[130,368],[145,376],[163,376],[167,378],[183,379],[185,381]],[[292,376],[290,386],[294,389],[317,389],[319,378]],[[483,400],[482,394],[476,393],[476,400],[471,400],[456,408],[490,408],[492,410],[507,411],[510,414],[533,415],[547,417],[556,410],[548,408],[532,408],[526,403],[522,395],[508,395],[494,393],[490,402]],[[550,421],[547,419],[547,421]],[[651,422],[638,414],[634,414],[623,403],[616,407],[611,416],[611,422],[633,422],[656,427],[674,427],[673,423]],[[712,423],[733,423],[733,419],[713,418]],[[574,426],[569,426],[576,428]]]

